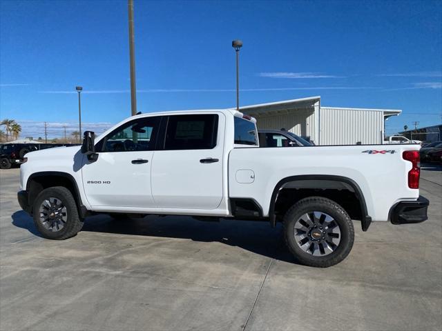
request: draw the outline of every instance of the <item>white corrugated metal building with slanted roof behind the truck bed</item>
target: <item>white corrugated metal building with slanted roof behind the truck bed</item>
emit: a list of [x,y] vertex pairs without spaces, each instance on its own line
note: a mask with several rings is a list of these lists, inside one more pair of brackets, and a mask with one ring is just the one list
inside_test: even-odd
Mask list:
[[258,129],[281,129],[309,136],[316,145],[383,143],[384,121],[402,110],[320,106],[309,97],[244,106],[240,110],[258,120]]

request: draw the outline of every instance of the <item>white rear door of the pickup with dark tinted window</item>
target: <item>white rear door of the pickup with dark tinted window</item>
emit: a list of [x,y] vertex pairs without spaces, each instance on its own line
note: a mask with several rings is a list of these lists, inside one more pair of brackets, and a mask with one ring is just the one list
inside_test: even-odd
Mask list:
[[215,209],[222,201],[225,117],[222,112],[167,117],[152,163],[159,208]]

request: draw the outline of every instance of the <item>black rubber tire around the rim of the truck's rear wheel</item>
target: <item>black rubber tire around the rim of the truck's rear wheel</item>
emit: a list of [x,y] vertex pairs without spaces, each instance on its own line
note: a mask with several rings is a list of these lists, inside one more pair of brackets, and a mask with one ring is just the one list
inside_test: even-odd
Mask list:
[[[306,212],[324,212],[334,218],[340,228],[340,242],[334,252],[321,256],[314,256],[303,251],[296,243],[294,226],[296,221]],[[287,248],[295,259],[303,264],[317,268],[327,268],[343,261],[352,250],[354,243],[354,228],[352,219],[338,203],[323,197],[309,197],[295,203],[287,210],[284,216],[284,239]]]

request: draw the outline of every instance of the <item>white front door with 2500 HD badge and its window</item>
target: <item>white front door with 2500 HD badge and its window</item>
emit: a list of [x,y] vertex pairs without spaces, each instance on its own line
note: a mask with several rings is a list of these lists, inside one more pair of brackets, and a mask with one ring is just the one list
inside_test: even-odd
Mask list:
[[160,117],[128,121],[107,134],[95,149],[97,161],[84,157],[84,191],[92,206],[155,207],[151,168]]

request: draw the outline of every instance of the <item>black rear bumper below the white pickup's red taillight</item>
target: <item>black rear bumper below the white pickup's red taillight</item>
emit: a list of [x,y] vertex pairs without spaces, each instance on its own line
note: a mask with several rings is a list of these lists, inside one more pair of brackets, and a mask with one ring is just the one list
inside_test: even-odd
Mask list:
[[416,201],[401,201],[390,210],[390,221],[393,224],[421,223],[428,219],[427,208],[430,201],[421,195]]

